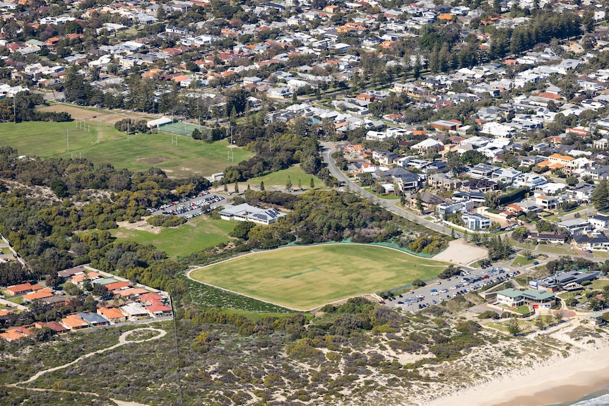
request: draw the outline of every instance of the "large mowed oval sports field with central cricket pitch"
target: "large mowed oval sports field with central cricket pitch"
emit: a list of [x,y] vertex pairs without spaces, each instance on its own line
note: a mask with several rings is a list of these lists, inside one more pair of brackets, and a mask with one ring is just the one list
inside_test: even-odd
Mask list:
[[190,276],[290,309],[309,310],[425,279],[447,265],[381,246],[329,244],[253,253],[199,268]]

